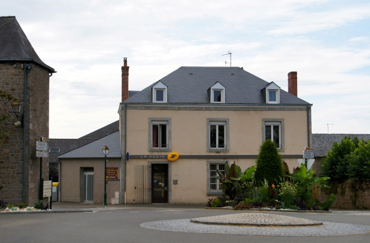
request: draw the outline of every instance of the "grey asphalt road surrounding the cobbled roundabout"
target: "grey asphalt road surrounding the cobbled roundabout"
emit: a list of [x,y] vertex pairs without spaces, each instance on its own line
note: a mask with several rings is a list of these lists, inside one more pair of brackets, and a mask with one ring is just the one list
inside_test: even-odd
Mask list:
[[[57,209],[58,208],[54,208],[54,210]],[[60,209],[67,210],[67,208]],[[177,208],[90,209],[94,212],[0,214],[0,242],[370,242],[370,234],[348,236],[255,236],[160,231],[145,229],[139,226],[141,223],[150,221],[235,214],[241,213],[240,211]],[[70,210],[77,209],[70,208]],[[318,221],[370,226],[369,211],[334,211],[332,214],[266,213]],[[355,213],[365,214],[354,215]],[[310,230],[310,227],[307,227],[307,230]]]

